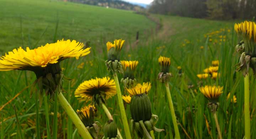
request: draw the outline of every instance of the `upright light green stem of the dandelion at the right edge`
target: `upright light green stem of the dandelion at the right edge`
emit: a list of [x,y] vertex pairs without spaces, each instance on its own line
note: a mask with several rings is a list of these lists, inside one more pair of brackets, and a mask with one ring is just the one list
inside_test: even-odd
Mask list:
[[245,104],[244,104],[244,113],[245,113],[245,139],[251,139],[251,128],[250,128],[250,92],[249,92],[249,76],[246,75],[244,78],[244,87],[245,87]]

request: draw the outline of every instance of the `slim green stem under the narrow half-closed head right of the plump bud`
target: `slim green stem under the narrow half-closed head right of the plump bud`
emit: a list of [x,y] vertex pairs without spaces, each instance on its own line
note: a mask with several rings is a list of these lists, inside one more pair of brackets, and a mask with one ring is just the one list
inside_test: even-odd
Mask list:
[[173,103],[172,103],[171,92],[170,92],[168,82],[165,82],[165,87],[166,87],[167,98],[168,98],[169,106],[170,106],[170,110],[171,110],[172,123],[174,124],[175,137],[176,137],[176,139],[180,139],[180,133],[178,131],[178,124],[177,124],[177,121],[176,121],[176,115],[175,115],[175,112],[174,112],[174,106],[173,106]]

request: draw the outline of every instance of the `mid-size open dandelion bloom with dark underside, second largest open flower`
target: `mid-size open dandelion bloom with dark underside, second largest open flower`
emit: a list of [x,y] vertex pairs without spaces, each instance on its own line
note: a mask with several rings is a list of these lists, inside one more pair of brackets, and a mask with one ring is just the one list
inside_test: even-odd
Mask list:
[[110,77],[91,79],[82,82],[75,90],[75,97],[79,100],[89,102],[94,101],[97,104],[113,97],[117,93],[116,84]]

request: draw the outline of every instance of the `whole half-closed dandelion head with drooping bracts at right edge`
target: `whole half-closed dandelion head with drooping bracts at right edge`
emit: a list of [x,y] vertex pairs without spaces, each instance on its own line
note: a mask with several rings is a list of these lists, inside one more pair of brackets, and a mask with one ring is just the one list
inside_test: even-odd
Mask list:
[[239,67],[236,71],[241,71],[244,76],[248,74],[249,68],[252,68],[254,77],[256,74],[256,23],[250,21],[244,21],[234,26],[236,34],[243,37],[235,49],[237,52],[241,51],[242,54],[237,64]]

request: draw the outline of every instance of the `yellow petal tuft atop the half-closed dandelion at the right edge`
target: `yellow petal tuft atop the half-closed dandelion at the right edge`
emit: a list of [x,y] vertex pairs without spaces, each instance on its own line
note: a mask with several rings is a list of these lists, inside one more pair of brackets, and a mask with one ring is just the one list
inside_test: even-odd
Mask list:
[[248,36],[250,40],[256,42],[256,23],[244,21],[234,26],[236,33]]

